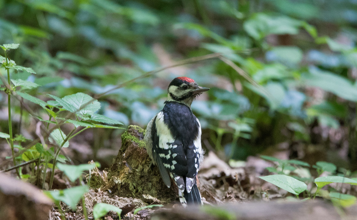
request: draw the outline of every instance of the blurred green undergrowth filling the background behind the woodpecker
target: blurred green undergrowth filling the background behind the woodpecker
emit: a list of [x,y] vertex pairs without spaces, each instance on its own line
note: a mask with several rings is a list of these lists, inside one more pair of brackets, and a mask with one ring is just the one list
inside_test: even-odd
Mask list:
[[[356,0],[0,0],[0,30],[0,44],[20,44],[10,58],[37,72],[11,78],[40,84],[29,93],[46,101],[46,94],[93,96],[176,61],[222,53],[240,74],[217,58],[177,66],[101,96],[99,113],[145,127],[169,82],[188,76],[211,88],[192,110],[203,146],[226,160],[267,154],[357,168]],[[6,132],[4,92],[0,100]],[[22,120],[21,133],[33,138],[28,112]],[[83,132],[71,158],[88,151],[78,143],[91,148],[87,159],[110,149],[115,156],[122,132]]]

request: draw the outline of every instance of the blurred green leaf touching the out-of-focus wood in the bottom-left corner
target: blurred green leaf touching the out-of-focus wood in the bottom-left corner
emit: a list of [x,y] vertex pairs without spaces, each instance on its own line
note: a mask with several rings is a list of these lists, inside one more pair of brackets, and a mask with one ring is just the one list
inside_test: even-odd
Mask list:
[[69,189],[64,190],[55,190],[55,191],[45,191],[45,194],[53,200],[62,201],[72,209],[76,208],[77,203],[82,198],[85,192],[89,191],[87,185],[84,186],[75,186]]

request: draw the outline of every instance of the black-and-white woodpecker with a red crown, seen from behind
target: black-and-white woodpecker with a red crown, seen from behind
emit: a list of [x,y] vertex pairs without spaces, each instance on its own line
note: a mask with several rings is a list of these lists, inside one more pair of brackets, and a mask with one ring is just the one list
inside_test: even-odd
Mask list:
[[192,101],[209,90],[188,77],[177,77],[167,88],[164,108],[146,128],[144,141],[152,163],[170,188],[171,179],[178,187],[181,204],[202,205],[197,188],[197,172],[203,161],[201,124],[191,110]]

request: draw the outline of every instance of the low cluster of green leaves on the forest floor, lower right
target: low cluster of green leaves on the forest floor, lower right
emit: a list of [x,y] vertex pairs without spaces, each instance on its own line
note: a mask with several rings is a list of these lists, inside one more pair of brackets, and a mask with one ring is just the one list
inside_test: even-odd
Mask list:
[[[310,166],[307,162],[300,160],[281,160],[265,155],[261,155],[261,158],[275,163],[275,166],[267,167],[267,170],[276,174],[260,176],[259,178],[291,192],[297,198],[301,193],[306,199],[315,199],[316,196],[321,196],[331,200],[336,206],[342,207],[351,206],[357,201],[355,196],[342,194],[333,187],[329,187],[328,190],[322,190],[323,186],[331,183],[357,185],[357,178],[349,178],[350,171],[344,170],[343,174],[341,172],[338,173],[335,164],[318,161],[315,165]],[[310,168],[316,170],[316,177],[311,175]],[[320,176],[323,172],[328,176]]]

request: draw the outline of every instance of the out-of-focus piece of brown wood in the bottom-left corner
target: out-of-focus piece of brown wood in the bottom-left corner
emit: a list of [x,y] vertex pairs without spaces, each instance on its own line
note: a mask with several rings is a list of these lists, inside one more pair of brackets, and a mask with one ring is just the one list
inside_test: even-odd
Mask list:
[[51,206],[35,186],[0,173],[0,219],[48,219]]

